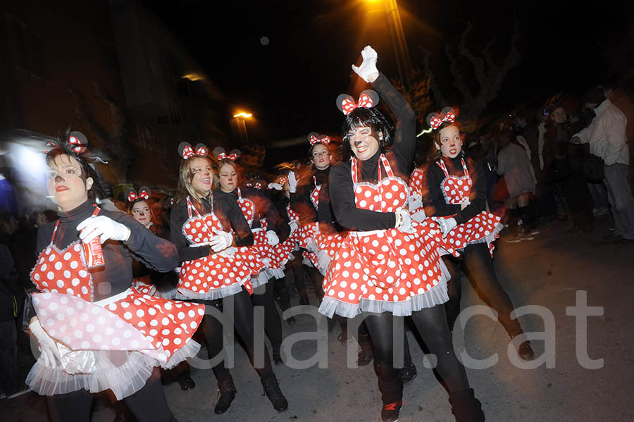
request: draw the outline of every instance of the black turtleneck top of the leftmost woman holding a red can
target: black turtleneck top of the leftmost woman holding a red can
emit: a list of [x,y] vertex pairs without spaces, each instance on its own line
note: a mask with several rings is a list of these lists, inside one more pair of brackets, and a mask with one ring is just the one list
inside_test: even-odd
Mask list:
[[[85,201],[68,212],[59,211],[59,226],[55,233],[54,245],[59,249],[66,249],[69,244],[79,240],[77,225],[92,216],[93,212],[92,201]],[[101,245],[106,266],[90,271],[94,283],[94,301],[111,297],[130,287],[132,259],[160,272],[172,271],[178,266],[178,253],[174,245],[154,235],[132,216],[123,211],[104,209],[101,209],[98,215],[127,226],[130,229],[130,238],[125,242],[107,240]],[[48,223],[37,230],[38,254],[51,243],[55,224]]]

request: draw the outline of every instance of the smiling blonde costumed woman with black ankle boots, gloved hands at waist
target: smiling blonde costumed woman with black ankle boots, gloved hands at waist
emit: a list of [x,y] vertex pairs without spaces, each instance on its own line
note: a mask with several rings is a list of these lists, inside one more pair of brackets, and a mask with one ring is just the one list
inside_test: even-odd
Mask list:
[[[187,142],[181,142],[178,150],[182,160],[177,204],[170,215],[171,240],[181,261],[178,297],[216,307],[220,306],[220,299],[230,297],[235,329],[254,362],[253,305],[249,295],[253,292],[251,277],[258,275],[263,263],[247,248],[253,244],[253,233],[235,200],[211,194],[213,167],[207,148],[198,144],[194,150]],[[223,326],[208,316],[202,330],[211,359],[223,351]],[[263,363],[263,368],[256,371],[264,391],[275,410],[285,411],[288,403],[266,348]],[[220,391],[214,411],[222,414],[229,409],[236,389],[223,362],[213,367],[213,373]]]

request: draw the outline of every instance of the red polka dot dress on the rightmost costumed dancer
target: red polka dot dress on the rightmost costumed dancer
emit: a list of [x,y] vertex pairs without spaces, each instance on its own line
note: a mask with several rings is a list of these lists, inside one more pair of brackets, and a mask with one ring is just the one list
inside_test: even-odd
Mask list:
[[[442,180],[441,190],[442,196],[447,204],[464,204],[469,201],[469,194],[473,186],[473,180],[469,175],[468,168],[464,159],[461,159],[463,176],[449,175],[447,166],[444,161],[436,161],[436,165],[445,173],[445,180]],[[414,187],[410,184],[412,190]],[[447,216],[449,217],[449,216]],[[448,242],[455,249],[463,249],[468,244],[484,243],[489,246],[489,252],[493,254],[493,241],[499,237],[499,231],[502,230],[502,224],[499,222],[499,216],[482,211],[465,223],[459,224],[450,231],[446,237]]]

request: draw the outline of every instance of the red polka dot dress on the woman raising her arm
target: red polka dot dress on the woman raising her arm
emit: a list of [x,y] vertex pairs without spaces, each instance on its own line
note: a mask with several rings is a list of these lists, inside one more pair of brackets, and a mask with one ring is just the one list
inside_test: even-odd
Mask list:
[[[381,166],[387,178],[381,177]],[[377,184],[352,181],[357,208],[394,212],[407,204],[407,185],[394,176],[380,156]],[[412,222],[409,233],[397,229],[349,232],[323,281],[325,297],[319,311],[354,318],[362,311],[411,315],[447,302],[449,274],[440,259],[440,230],[433,221]]]

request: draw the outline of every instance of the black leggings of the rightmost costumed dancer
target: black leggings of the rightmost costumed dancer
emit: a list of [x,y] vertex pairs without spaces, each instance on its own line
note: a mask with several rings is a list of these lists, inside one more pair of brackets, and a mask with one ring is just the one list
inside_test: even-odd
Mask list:
[[[461,255],[466,271],[471,275],[473,283],[477,287],[476,291],[479,290],[483,294],[483,299],[497,311],[498,320],[502,323],[506,332],[511,337],[521,334],[521,325],[516,319],[511,319],[513,304],[511,299],[509,299],[509,295],[499,285],[488,245],[486,243],[469,244],[461,252]],[[447,285],[449,302],[445,306],[447,307],[449,326],[453,328],[453,324],[460,314],[460,261],[453,256],[445,255],[442,258],[447,265],[449,273],[452,275]]]

